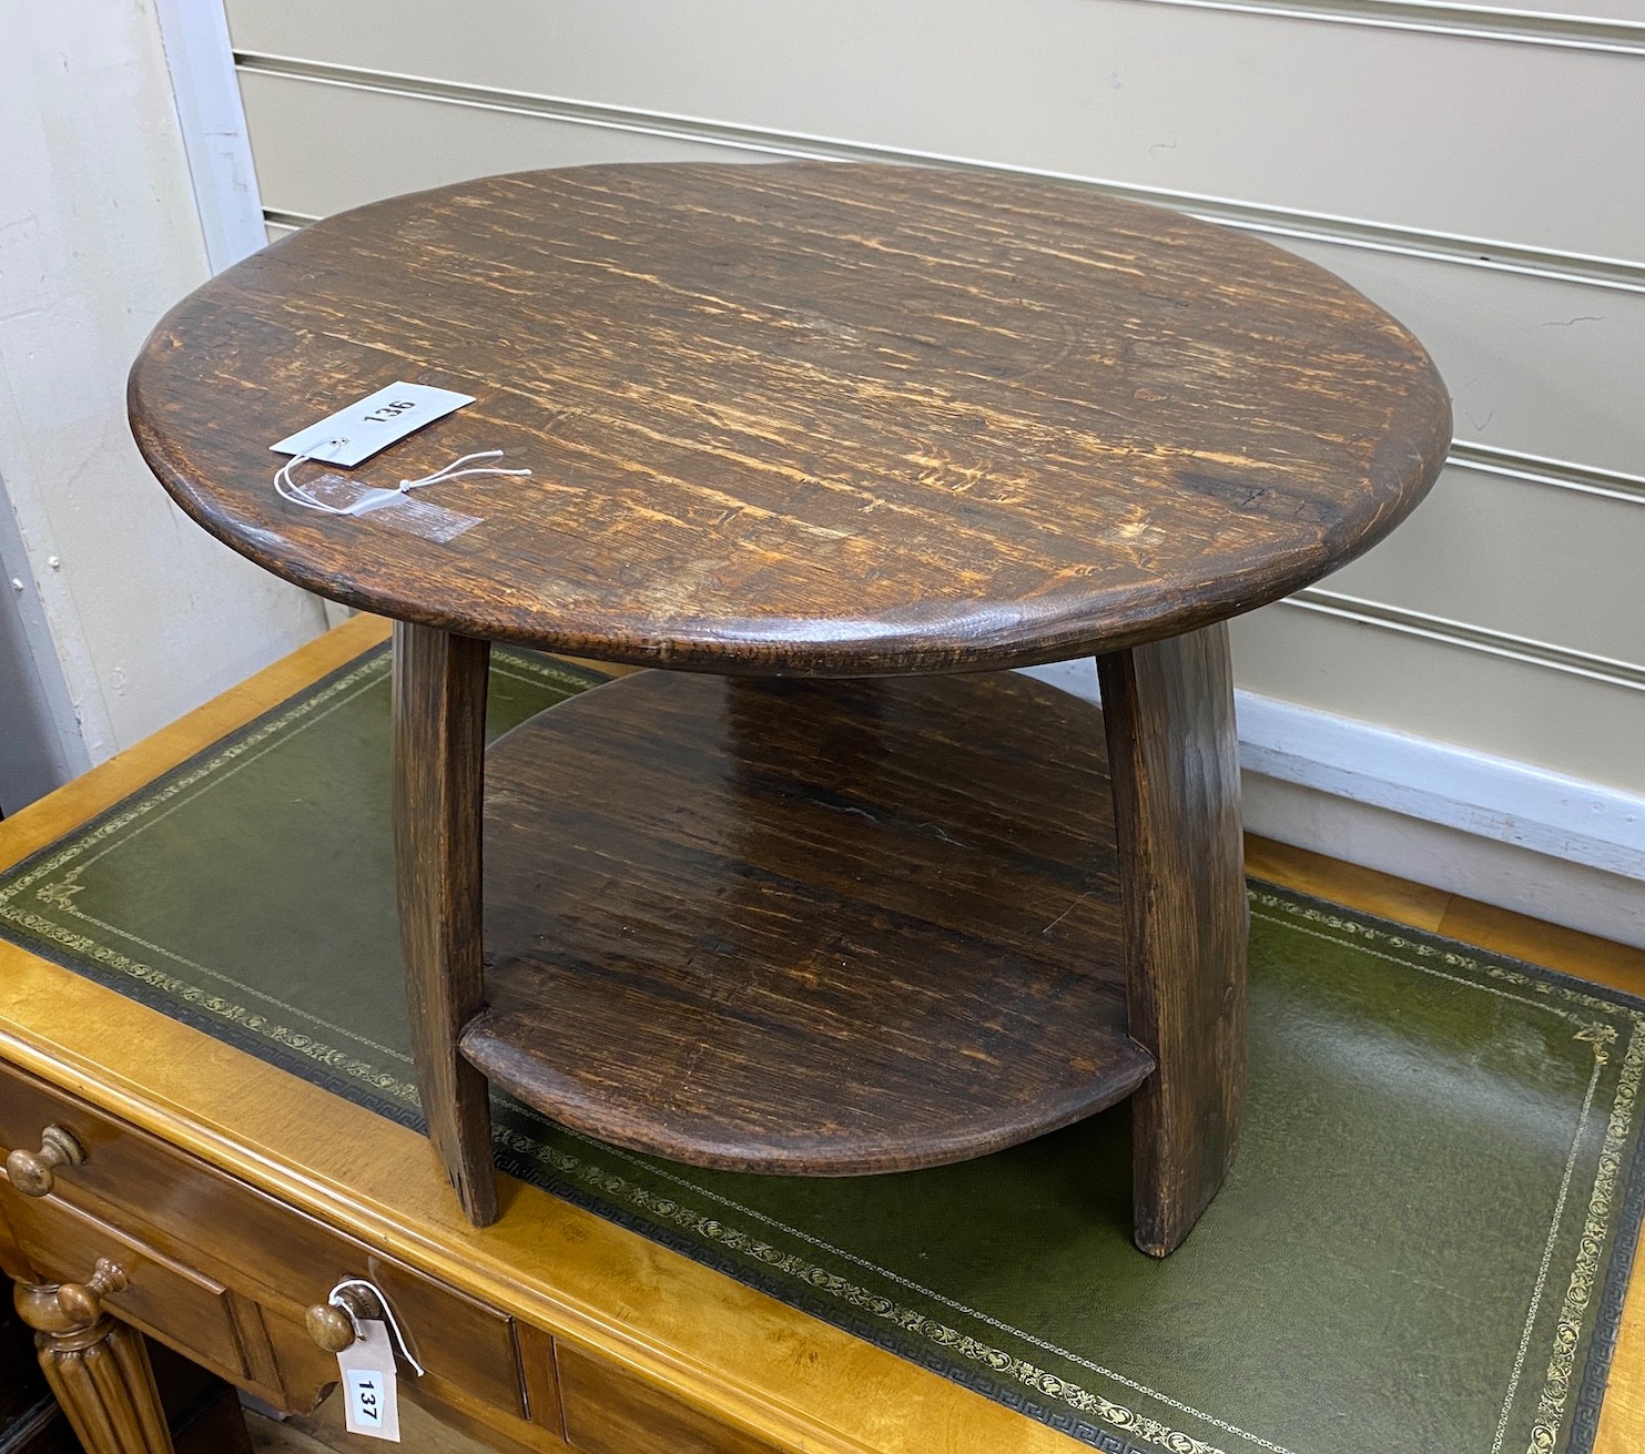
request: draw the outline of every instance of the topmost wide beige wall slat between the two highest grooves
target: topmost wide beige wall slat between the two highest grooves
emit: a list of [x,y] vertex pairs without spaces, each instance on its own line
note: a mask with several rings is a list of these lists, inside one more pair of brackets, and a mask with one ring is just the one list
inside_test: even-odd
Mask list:
[[230,18],[242,49],[1645,262],[1645,207],[1592,186],[1645,155],[1637,56],[1135,0]]

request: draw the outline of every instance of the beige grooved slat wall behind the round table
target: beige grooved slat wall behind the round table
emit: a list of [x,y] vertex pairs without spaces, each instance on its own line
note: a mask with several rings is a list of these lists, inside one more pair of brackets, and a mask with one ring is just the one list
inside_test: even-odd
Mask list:
[[926,156],[1334,268],[1433,349],[1459,444],[1393,539],[1237,625],[1242,686],[1642,793],[1645,3],[1300,10],[229,5],[276,230],[512,168]]

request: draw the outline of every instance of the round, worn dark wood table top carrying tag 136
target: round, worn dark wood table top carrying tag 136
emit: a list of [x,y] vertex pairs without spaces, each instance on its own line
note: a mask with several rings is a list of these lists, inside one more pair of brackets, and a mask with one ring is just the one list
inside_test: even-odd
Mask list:
[[[275,493],[275,441],[395,382],[475,403],[334,472],[531,470],[419,490],[479,520],[447,539]],[[178,304],[130,405],[178,503],[299,586],[725,673],[1193,630],[1380,539],[1451,431],[1410,332],[1265,242],[837,163],[536,171],[329,217]]]

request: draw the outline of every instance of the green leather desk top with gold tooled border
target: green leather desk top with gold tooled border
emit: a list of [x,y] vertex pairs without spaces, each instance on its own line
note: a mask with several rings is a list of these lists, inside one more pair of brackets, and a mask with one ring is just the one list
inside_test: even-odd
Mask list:
[[[418,1123],[382,651],[0,875],[0,936]],[[584,686],[500,651],[500,730]],[[1645,1005],[1253,885],[1232,1179],[1128,1243],[1127,1117],[961,1166],[721,1174],[517,1107],[517,1176],[1110,1451],[1584,1454],[1640,1225]]]

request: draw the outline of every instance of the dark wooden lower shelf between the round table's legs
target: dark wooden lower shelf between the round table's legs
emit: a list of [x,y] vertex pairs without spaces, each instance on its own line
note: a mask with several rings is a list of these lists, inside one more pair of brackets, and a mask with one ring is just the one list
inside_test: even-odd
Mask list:
[[1015,673],[620,678],[487,757],[462,1053],[701,1166],[961,1161],[1128,1095],[1102,714]]

